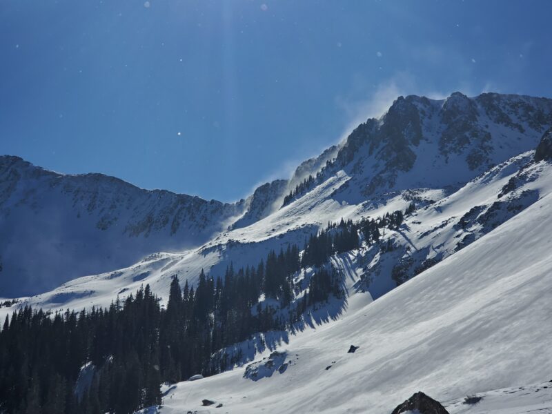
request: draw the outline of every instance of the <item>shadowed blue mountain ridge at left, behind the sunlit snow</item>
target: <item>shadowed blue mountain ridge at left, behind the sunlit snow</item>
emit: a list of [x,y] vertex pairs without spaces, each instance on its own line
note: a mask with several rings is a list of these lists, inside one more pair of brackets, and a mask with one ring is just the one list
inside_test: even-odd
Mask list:
[[39,293],[149,253],[198,246],[244,207],[0,157],[0,295]]

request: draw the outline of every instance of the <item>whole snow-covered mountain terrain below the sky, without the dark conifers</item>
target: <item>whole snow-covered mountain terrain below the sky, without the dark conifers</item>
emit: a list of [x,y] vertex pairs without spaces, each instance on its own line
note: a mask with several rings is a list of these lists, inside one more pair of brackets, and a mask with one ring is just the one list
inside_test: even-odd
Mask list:
[[[499,413],[514,404],[500,397],[513,387],[533,394],[508,413],[550,410],[551,393],[534,394],[552,368],[551,125],[551,99],[399,97],[290,179],[235,204],[2,157],[0,296],[41,293],[0,317],[27,304],[108,306],[145,284],[166,302],[174,275],[195,284],[202,269],[221,276],[270,250],[303,248],[328,222],[410,207],[377,243],[330,257],[344,297],[289,332],[219,351],[215,363],[241,355],[237,366],[171,386],[161,412],[199,412],[209,399],[228,413],[388,413],[422,390],[451,413],[484,393],[469,412]],[[290,306],[314,271],[294,275]]]

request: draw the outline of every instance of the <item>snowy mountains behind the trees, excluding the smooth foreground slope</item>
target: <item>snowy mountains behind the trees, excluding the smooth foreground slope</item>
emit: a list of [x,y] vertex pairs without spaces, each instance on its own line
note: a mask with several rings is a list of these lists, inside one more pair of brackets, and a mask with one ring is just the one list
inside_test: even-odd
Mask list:
[[[301,164],[290,180],[264,184],[237,204],[140,190],[101,175],[58,175],[3,157],[0,228],[8,236],[0,242],[0,296],[106,272],[25,303],[105,305],[142,283],[164,297],[172,275],[194,282],[201,268],[216,276],[230,262],[257,264],[270,249],[302,247],[328,221],[376,217],[414,201],[415,215],[384,236],[395,250],[362,249],[352,265],[362,275],[358,287],[379,297],[538,199],[531,188],[517,189],[538,170],[529,168],[504,195],[502,188],[531,159],[527,151],[548,124],[550,99],[400,97],[381,119]],[[282,206],[286,191],[308,175],[314,184]],[[160,250],[178,253],[142,259]]]

